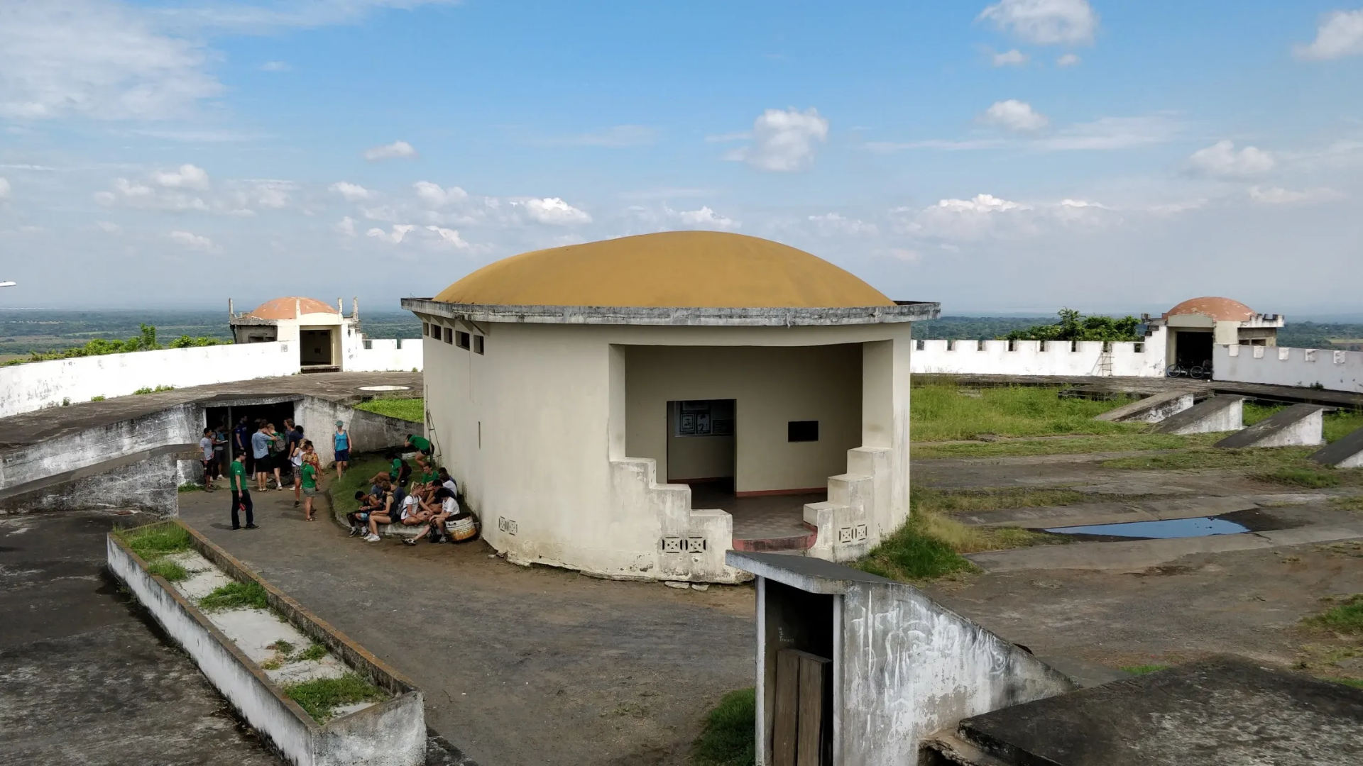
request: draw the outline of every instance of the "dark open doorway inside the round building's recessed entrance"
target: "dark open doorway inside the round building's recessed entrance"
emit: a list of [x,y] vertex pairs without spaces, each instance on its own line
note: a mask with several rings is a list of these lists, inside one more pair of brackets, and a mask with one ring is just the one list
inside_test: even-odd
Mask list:
[[669,484],[714,484],[733,492],[735,409],[733,399],[668,402]]

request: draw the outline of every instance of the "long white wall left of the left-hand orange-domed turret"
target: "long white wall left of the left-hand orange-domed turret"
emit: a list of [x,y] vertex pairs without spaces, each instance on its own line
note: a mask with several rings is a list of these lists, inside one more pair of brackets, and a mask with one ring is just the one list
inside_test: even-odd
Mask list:
[[296,342],[161,349],[0,367],[0,417],[157,386],[209,386],[298,372]]

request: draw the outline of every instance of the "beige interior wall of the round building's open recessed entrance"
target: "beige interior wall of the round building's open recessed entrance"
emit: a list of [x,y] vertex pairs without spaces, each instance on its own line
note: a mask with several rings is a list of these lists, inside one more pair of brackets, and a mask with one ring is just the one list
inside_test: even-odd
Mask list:
[[[626,451],[668,465],[668,402],[735,399],[737,492],[815,489],[861,444],[861,345],[626,346]],[[792,420],[818,442],[786,442]]]

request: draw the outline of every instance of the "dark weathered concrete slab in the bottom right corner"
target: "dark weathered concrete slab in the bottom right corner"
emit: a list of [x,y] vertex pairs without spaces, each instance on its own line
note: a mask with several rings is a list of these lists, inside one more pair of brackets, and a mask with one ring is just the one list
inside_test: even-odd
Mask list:
[[1314,766],[1363,761],[1363,690],[1216,657],[961,722],[1007,763]]

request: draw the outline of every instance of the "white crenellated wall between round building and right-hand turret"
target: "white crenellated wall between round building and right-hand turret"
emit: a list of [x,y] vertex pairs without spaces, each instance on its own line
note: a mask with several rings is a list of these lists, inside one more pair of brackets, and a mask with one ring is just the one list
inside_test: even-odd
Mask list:
[[[916,341],[913,373],[1164,376],[1165,330],[1144,342]],[[1107,345],[1111,352],[1104,353]],[[1107,358],[1104,358],[1107,357]]]

